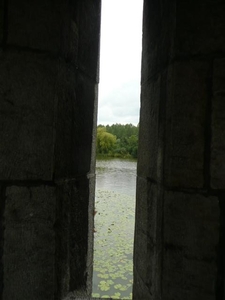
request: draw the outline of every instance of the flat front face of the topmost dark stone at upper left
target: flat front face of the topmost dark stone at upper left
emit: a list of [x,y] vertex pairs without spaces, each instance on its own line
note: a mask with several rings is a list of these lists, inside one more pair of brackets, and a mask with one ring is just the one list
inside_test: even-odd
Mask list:
[[8,3],[8,44],[59,52],[65,4],[35,0]]

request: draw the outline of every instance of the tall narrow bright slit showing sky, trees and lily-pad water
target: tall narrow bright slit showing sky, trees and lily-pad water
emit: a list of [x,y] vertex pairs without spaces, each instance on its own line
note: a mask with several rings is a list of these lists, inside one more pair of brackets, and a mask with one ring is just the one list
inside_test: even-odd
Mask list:
[[103,0],[92,297],[132,299],[140,0]]

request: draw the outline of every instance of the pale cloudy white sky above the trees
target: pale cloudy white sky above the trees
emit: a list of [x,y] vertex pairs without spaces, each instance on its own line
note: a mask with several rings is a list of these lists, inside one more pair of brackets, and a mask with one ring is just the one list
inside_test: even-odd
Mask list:
[[142,0],[102,0],[98,124],[137,125]]

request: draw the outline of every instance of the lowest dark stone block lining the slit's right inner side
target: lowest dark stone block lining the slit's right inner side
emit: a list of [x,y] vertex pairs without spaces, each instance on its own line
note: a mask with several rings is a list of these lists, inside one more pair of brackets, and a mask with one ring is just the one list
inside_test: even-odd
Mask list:
[[[137,179],[134,245],[134,299],[140,298],[140,279],[156,299],[161,293],[162,211],[161,187],[144,178]],[[142,287],[143,289],[143,287]],[[144,298],[143,298],[144,299]]]

